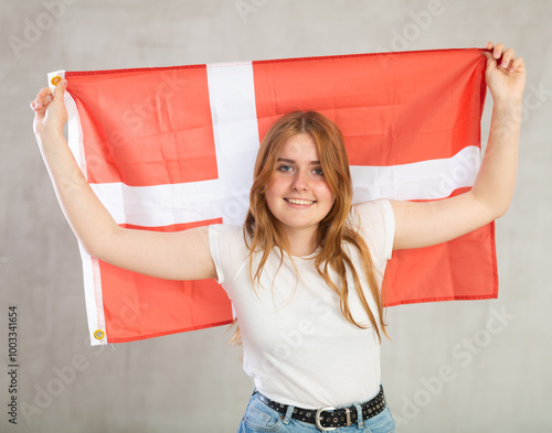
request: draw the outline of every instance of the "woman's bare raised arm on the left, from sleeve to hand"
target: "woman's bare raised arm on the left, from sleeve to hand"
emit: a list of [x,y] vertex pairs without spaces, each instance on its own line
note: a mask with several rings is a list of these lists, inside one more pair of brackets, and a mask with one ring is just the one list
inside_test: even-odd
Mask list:
[[116,267],[157,278],[214,278],[206,227],[155,232],[125,229],[115,223],[81,173],[63,134],[66,85],[66,80],[59,84],[55,95],[49,88],[39,93],[31,102],[33,127],[62,210],[86,251]]

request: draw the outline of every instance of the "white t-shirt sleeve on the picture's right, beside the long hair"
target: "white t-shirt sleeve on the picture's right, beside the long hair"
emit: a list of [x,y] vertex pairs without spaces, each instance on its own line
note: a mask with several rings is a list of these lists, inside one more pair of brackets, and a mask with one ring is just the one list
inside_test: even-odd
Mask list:
[[361,203],[352,206],[353,218],[374,259],[382,266],[393,255],[395,217],[388,199]]

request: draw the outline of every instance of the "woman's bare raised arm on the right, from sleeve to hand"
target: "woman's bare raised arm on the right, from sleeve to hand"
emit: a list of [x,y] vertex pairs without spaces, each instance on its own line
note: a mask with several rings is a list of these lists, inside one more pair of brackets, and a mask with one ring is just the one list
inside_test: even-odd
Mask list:
[[[501,217],[516,183],[521,98],[526,67],[503,44],[487,43],[485,77],[492,95],[492,120],[487,149],[471,191],[427,203],[392,202],[395,214],[393,248],[418,248],[445,242]],[[500,65],[498,59],[502,57]]]

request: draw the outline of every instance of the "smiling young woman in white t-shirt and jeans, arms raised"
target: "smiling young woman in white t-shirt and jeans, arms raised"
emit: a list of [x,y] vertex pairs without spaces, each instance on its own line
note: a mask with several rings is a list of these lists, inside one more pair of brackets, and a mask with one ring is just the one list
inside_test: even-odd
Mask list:
[[[174,280],[215,278],[237,315],[255,380],[238,432],[392,432],[380,386],[380,286],[392,249],[447,241],[500,217],[513,193],[523,59],[488,43],[493,97],[481,169],[468,193],[429,203],[351,206],[339,129],[293,112],[259,149],[244,227],[163,234],[120,228],[89,188],[63,136],[62,82],[31,104],[34,132],[63,212],[91,256]],[[500,64],[498,61],[500,59]]]

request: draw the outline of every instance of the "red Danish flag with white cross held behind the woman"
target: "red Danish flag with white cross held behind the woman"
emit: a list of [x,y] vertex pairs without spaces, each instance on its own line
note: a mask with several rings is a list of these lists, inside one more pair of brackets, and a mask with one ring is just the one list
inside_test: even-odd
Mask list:
[[[63,72],[70,147],[118,224],[176,231],[242,225],[259,139],[279,116],[317,110],[341,128],[355,203],[467,191],[480,161],[486,59],[477,48]],[[166,281],[82,250],[92,344],[227,324],[213,280]],[[493,225],[395,251],[385,303],[498,294]]]

